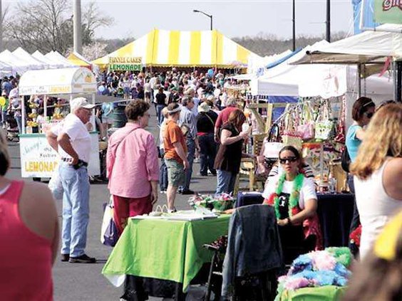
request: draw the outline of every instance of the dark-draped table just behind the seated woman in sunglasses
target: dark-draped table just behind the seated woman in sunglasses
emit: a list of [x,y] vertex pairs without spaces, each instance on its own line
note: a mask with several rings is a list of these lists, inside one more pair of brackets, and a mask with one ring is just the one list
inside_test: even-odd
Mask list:
[[[354,194],[317,194],[317,214],[324,238],[323,246],[347,247],[353,216]],[[262,204],[264,198],[257,192],[239,192],[236,207]]]

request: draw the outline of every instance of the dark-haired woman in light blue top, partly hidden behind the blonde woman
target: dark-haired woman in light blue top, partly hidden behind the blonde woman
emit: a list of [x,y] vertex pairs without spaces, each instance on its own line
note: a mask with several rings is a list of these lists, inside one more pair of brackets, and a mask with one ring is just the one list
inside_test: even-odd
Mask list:
[[[352,118],[354,123],[349,127],[346,133],[346,148],[348,149],[349,157],[351,158],[351,163],[353,163],[357,157],[357,152],[359,150],[360,144],[364,139],[365,130],[364,127],[368,125],[371,117],[373,117],[374,112],[376,112],[376,104],[368,97],[360,97],[352,107]],[[354,179],[353,175],[348,175],[348,185],[350,191],[354,194]],[[359,211],[356,207],[356,200],[354,202],[354,213],[351,221],[351,228],[349,233],[352,233],[360,225]],[[358,250],[353,244],[349,245],[352,253],[356,255]]]

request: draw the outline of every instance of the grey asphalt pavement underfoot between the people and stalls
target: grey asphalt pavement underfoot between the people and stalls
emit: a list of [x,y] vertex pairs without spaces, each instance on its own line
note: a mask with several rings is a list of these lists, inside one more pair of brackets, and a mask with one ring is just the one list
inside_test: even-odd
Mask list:
[[[150,125],[148,129],[158,141],[159,128],[157,126],[155,110],[150,108]],[[10,142],[9,152],[11,155],[11,169],[7,176],[11,179],[21,179],[21,162],[19,155],[19,143]],[[193,176],[190,189],[200,194],[210,194],[216,189],[215,176],[199,176],[200,164],[193,166]],[[32,181],[32,179],[24,179]],[[122,287],[114,287],[101,274],[112,248],[100,243],[100,226],[103,217],[103,203],[109,199],[107,184],[91,184],[90,218],[88,226],[88,238],[86,253],[97,258],[94,264],[62,263],[57,258],[53,267],[54,300],[119,300],[123,294]],[[175,206],[178,210],[190,209],[187,204],[189,196],[177,195]],[[158,204],[166,204],[166,195],[159,194]],[[157,205],[158,205],[157,204]],[[58,216],[61,219],[61,201],[56,201]],[[150,300],[161,300],[150,298]]]

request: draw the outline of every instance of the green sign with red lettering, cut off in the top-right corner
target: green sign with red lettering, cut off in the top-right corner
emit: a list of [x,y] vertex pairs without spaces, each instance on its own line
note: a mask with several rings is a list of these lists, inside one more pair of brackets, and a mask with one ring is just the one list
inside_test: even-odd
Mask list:
[[402,23],[402,0],[374,0],[374,21]]

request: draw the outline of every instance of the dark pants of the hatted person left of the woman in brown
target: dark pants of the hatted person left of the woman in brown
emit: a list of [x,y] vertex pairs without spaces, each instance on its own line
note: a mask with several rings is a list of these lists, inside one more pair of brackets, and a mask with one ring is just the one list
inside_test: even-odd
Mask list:
[[207,176],[208,169],[212,174],[216,174],[214,162],[217,154],[217,144],[214,140],[214,134],[204,134],[199,136],[198,140],[200,143],[200,174]]

